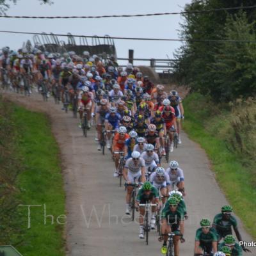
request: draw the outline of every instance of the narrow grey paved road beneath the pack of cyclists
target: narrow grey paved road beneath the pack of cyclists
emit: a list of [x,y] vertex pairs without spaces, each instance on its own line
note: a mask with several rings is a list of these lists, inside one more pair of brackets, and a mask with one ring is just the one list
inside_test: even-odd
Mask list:
[[[67,255],[161,255],[156,231],[150,232],[150,242],[146,246],[145,241],[138,238],[138,225],[125,216],[124,188],[119,188],[118,180],[113,177],[114,165],[109,152],[102,156],[97,151],[95,132],[90,131],[88,138],[84,138],[71,113],[63,113],[60,105],[55,105],[52,100],[42,102],[40,95],[28,99],[11,93],[8,97],[51,117],[52,131],[60,145],[65,166]],[[188,193],[186,243],[182,244],[180,255],[191,256],[199,221],[203,217],[212,220],[227,200],[214,179],[204,150],[186,134],[182,134],[182,145],[175,150],[172,159],[179,161],[184,170]],[[240,221],[239,229],[244,240],[252,241]],[[255,251],[251,255],[255,255]]]

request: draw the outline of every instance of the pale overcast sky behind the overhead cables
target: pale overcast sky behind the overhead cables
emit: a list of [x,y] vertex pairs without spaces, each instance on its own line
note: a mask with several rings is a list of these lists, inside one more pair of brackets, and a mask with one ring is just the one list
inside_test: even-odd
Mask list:
[[[191,0],[52,0],[51,6],[37,0],[19,0],[11,5],[8,15],[122,15],[137,13],[180,12]],[[74,35],[110,35],[125,37],[178,38],[180,15],[155,17],[108,18],[108,19],[1,19],[0,30],[29,31],[46,33],[70,32]],[[1,33],[0,46],[9,45],[18,49],[31,35]],[[63,38],[59,38],[63,40]],[[67,39],[66,39],[67,40]],[[79,44],[79,38],[76,39]],[[89,41],[90,43],[90,41]],[[134,49],[134,58],[173,57],[179,42],[145,42],[115,40],[117,55],[127,58],[128,49]]]

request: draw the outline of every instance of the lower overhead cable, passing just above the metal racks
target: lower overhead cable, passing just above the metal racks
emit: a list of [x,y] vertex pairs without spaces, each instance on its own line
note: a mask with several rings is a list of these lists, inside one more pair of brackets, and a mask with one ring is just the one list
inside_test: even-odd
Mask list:
[[[106,38],[106,36],[88,36],[88,35],[65,35],[54,33],[35,33],[24,31],[7,31],[0,30],[0,33],[24,34],[24,35],[47,35],[47,36],[73,36],[73,37],[86,37],[86,38]],[[108,36],[109,39],[117,40],[143,40],[143,41],[177,41],[177,42],[216,42],[216,43],[256,43],[256,40],[215,40],[215,39],[173,39],[173,38],[140,38],[140,37],[121,37],[121,36]]]

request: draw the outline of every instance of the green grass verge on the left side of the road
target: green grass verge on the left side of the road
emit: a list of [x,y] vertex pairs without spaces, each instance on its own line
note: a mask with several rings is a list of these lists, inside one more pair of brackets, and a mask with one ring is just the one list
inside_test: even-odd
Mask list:
[[[19,106],[14,107],[12,118],[15,126],[19,127],[17,147],[25,164],[25,170],[17,179],[21,191],[20,202],[24,205],[42,205],[31,207],[31,228],[28,228],[28,208],[19,207],[19,214],[24,220],[24,242],[17,249],[24,256],[65,255],[64,225],[56,222],[58,216],[65,214],[60,152],[49,120],[42,113]],[[50,218],[44,224],[44,204],[46,214],[54,216],[53,225]]]

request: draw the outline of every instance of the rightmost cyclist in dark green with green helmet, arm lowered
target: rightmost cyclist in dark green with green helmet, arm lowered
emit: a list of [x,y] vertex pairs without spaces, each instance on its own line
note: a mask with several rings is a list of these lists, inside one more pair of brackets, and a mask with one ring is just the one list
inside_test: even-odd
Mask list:
[[[223,205],[221,207],[221,213],[214,217],[212,227],[214,227],[218,234],[218,241],[227,235],[232,235],[232,227],[236,233],[238,241],[243,241],[241,234],[237,228],[237,220],[232,215],[233,208],[230,205]],[[242,246],[244,252],[248,252],[248,249]]]

